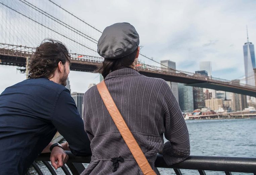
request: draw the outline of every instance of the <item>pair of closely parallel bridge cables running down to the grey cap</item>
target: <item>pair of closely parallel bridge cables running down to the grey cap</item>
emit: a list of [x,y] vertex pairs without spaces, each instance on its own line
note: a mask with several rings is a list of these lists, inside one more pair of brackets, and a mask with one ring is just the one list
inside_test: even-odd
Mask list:
[[[80,36],[82,36],[82,37],[84,37],[84,38],[90,40],[91,42],[97,44],[97,40],[95,40],[94,38],[92,38],[92,37],[90,37],[90,36],[88,36],[88,35],[86,35],[86,34],[80,32],[80,31],[78,31],[77,29],[75,29],[75,28],[69,26],[68,24],[64,23],[63,21],[61,21],[61,20],[59,20],[59,19],[57,19],[57,18],[55,18],[54,16],[52,16],[52,15],[50,15],[49,13],[43,11],[42,9],[36,7],[35,5],[29,3],[28,1],[26,1],[26,0],[19,0],[19,1],[21,1],[22,3],[28,5],[29,7],[33,8],[34,10],[38,11],[39,13],[41,13],[41,14],[43,14],[43,15],[45,15],[45,16],[49,15],[49,16],[47,16],[47,17],[50,18],[50,19],[52,19],[52,20],[55,21],[56,23],[58,23],[58,24],[60,24],[60,25],[62,25],[62,26],[64,26],[64,27],[66,27],[67,29],[69,29],[69,30],[71,30],[71,31],[73,31],[73,32],[75,32],[75,33],[77,33],[78,35],[80,35]],[[25,1],[25,2],[23,2],[23,1]],[[34,6],[35,8],[32,7],[32,6]],[[36,8],[37,8],[37,9],[36,9]],[[39,11],[39,10],[40,10],[40,11]],[[42,11],[42,12],[41,12],[41,11]],[[45,14],[44,14],[44,13],[45,13]],[[46,15],[46,14],[47,14],[47,15]],[[53,19],[53,18],[54,18],[54,19]],[[56,20],[55,20],[55,19],[56,19]],[[57,21],[57,20],[58,20],[58,21]],[[60,22],[59,22],[59,21],[60,21]],[[62,23],[62,24],[61,24],[61,23]],[[67,25],[68,27],[65,26],[65,25],[63,25],[63,24]],[[76,31],[74,31],[74,30],[72,30],[72,29],[70,29],[69,27],[72,28],[72,29],[74,29],[74,30],[76,30],[76,31],[78,31],[79,33],[76,32]],[[80,33],[82,33],[82,34],[85,35],[86,37],[83,36],[83,35],[81,35]],[[87,37],[89,37],[90,39],[87,38]],[[92,40],[91,40],[91,39],[92,39]],[[94,41],[93,41],[93,40],[94,40]]]

